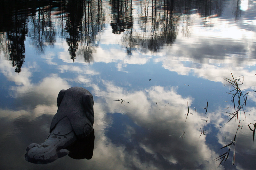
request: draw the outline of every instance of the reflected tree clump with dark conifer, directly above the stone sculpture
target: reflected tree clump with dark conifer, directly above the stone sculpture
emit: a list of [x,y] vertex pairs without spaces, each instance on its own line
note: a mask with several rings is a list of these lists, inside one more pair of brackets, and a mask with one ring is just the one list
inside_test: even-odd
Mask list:
[[[96,45],[96,35],[104,26],[104,11],[102,2],[69,1],[67,5],[68,19],[66,30],[69,33],[66,41],[73,62],[77,54],[84,56],[85,62],[91,62],[93,47]],[[80,49],[78,47],[80,46]]]

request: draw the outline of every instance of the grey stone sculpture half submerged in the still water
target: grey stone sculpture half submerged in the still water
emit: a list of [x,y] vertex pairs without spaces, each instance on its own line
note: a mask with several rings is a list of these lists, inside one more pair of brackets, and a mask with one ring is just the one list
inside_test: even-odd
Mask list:
[[[89,145],[88,151],[93,151],[92,94],[82,87],[61,90],[57,98],[57,105],[58,110],[52,119],[50,135],[46,141],[42,144],[28,145],[25,154],[25,159],[28,162],[46,164],[66,155],[74,159],[92,158],[90,157],[92,154],[89,156],[77,156],[75,154],[76,150],[80,152],[87,150],[86,147],[76,149],[78,144],[83,145],[86,142]],[[83,153],[78,155],[83,155]]]

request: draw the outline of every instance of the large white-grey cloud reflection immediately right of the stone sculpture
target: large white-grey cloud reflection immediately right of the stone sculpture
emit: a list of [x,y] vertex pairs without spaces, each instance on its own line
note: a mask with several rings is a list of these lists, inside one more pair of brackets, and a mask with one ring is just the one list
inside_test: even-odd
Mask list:
[[[106,85],[106,91],[99,92],[96,90],[92,92],[95,96],[100,97],[100,101],[106,101],[105,104],[95,101],[97,106],[94,107],[95,113],[97,113],[95,114],[95,130],[97,130],[98,126],[102,129],[104,126],[103,122],[106,123],[105,130],[111,126],[108,124],[108,121],[102,119],[102,117],[106,116],[106,113],[119,113],[129,116],[133,122],[148,131],[145,134],[147,139],[145,138],[140,141],[139,148],[132,152],[120,148],[121,146],[128,147],[127,144],[121,146],[111,144],[111,146],[114,147],[112,150],[122,150],[122,152],[116,155],[116,158],[125,157],[125,161],[123,162],[124,165],[134,165],[135,168],[142,169],[147,166],[150,168],[156,167],[157,169],[166,168],[164,166],[152,166],[150,164],[140,167],[139,165],[143,165],[143,163],[145,164],[145,162],[141,160],[140,155],[142,154],[140,150],[143,149],[145,152],[152,155],[151,163],[157,161],[160,157],[164,157],[166,160],[170,161],[170,167],[172,164],[175,165],[181,162],[182,165],[187,164],[190,168],[199,167],[200,164],[206,169],[218,166],[218,162],[212,161],[218,157],[218,155],[205,143],[205,138],[203,136],[200,139],[198,138],[200,135],[200,127],[203,127],[205,124],[204,121],[201,121],[204,116],[200,116],[197,112],[193,112],[194,114],[189,114],[188,120],[185,122],[186,116],[184,113],[187,113],[187,101],[188,103],[191,103],[191,99],[183,99],[173,88],[164,90],[163,87],[154,86],[145,91],[125,92],[122,88],[116,87],[110,82],[103,83]],[[113,100],[116,99],[117,96],[122,96],[123,100],[126,100],[122,103],[122,106],[120,106],[121,101],[118,102]],[[102,107],[104,110],[100,109]],[[161,108],[161,111],[159,108]],[[98,111],[98,109],[100,110]],[[100,117],[100,120],[98,117]],[[179,138],[182,134],[182,130],[186,130],[186,137],[184,139]],[[136,133],[136,131],[134,132],[133,129],[132,133]],[[158,138],[160,135],[157,133],[161,134],[161,138]],[[106,140],[106,136],[104,136],[104,138]],[[132,137],[130,140],[135,139]],[[168,144],[168,142],[170,143]],[[110,141],[108,139],[107,143],[108,144],[105,145],[110,145],[109,143],[111,143],[111,139]],[[185,147],[184,151],[186,151],[186,154],[182,151],[177,151],[177,147],[180,143],[182,143],[182,146],[179,147]],[[187,150],[186,147],[187,149],[190,149]],[[95,151],[97,150],[98,148],[95,148]],[[104,148],[100,148],[100,150],[104,150]],[[111,155],[114,154],[113,151],[110,153]],[[160,154],[159,157],[159,153],[163,153],[163,155]],[[193,158],[195,158],[195,160]],[[205,162],[207,163],[205,164]]]

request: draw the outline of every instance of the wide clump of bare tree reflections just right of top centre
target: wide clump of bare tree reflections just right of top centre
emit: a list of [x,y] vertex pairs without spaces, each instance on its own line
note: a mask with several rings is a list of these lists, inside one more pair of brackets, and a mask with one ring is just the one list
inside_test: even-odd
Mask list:
[[[174,1],[176,2],[176,1]],[[145,53],[147,50],[157,52],[164,44],[172,44],[178,33],[178,19],[180,13],[174,11],[173,1],[144,1],[140,15],[140,30],[132,36],[132,30],[123,36],[123,43],[127,54],[139,49]],[[132,14],[132,12],[131,12]]]

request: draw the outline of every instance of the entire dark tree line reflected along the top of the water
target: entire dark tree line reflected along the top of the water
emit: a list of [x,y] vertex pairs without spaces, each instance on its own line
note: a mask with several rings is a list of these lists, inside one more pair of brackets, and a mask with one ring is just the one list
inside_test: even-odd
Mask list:
[[[92,62],[92,53],[99,45],[99,36],[105,24],[112,33],[123,34],[122,46],[127,55],[139,50],[156,52],[176,40],[179,29],[189,36],[190,14],[200,14],[205,26],[206,18],[219,17],[226,5],[224,1],[170,1],[170,0],[86,0],[86,1],[1,1],[1,46],[8,51],[9,60],[20,72],[25,61],[26,37],[37,54],[46,47],[54,48],[57,39],[68,44],[70,59],[74,62],[82,55]],[[134,5],[139,6],[135,11]],[[238,18],[240,1],[233,3]],[[106,15],[106,9],[111,14]],[[138,19],[134,19],[137,17]],[[178,24],[183,22],[182,27]],[[136,30],[134,30],[134,25]],[[3,49],[6,48],[6,49]]]

